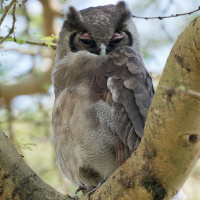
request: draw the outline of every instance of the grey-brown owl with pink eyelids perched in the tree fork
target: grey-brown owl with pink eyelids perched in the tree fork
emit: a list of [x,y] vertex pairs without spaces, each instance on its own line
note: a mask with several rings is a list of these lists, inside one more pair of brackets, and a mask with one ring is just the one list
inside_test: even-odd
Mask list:
[[57,163],[86,193],[136,150],[154,95],[125,2],[69,8],[52,81]]

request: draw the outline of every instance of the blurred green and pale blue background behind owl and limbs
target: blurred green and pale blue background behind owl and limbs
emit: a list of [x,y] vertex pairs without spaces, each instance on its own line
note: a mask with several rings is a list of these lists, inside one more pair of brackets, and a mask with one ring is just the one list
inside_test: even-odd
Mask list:
[[[0,0],[0,17],[10,0]],[[65,179],[55,162],[52,145],[51,112],[54,95],[50,74],[55,50],[28,42],[56,43],[68,6],[77,9],[116,3],[116,0],[29,0],[16,8],[15,42],[0,45],[0,128],[14,142],[27,164],[48,184],[64,194],[77,189]],[[136,16],[164,16],[185,13],[199,6],[198,0],[127,0]],[[157,85],[167,56],[178,35],[195,17],[165,20],[134,19],[143,47],[144,62]],[[12,10],[0,32],[5,37],[12,27]],[[31,86],[28,85],[31,83]],[[200,163],[185,183],[188,199],[200,199]]]

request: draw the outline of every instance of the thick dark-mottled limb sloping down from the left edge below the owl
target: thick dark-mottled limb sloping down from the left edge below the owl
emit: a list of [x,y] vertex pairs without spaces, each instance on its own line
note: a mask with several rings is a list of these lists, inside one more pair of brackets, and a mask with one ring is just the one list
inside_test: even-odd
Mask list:
[[71,200],[42,181],[0,131],[0,199]]

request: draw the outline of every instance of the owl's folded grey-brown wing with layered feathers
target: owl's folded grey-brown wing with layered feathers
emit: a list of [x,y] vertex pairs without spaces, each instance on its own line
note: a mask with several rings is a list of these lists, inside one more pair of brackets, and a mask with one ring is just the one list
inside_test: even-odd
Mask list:
[[91,97],[119,112],[115,153],[121,165],[141,141],[154,87],[142,58],[131,47],[120,47],[107,56],[93,76]]

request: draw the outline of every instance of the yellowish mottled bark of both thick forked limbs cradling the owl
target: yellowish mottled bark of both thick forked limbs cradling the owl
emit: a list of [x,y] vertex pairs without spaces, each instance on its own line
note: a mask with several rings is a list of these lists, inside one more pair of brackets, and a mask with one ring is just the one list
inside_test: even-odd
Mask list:
[[[175,43],[137,151],[93,194],[80,199],[168,200],[200,156],[200,17]],[[0,198],[70,199],[46,185],[0,133]]]

